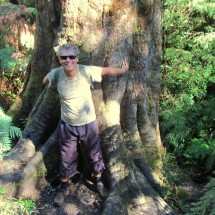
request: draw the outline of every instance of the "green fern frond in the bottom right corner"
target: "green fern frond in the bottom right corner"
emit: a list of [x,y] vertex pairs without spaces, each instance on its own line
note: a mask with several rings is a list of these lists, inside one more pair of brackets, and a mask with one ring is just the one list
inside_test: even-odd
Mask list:
[[210,214],[215,215],[215,178],[205,186],[206,193],[199,199],[198,202],[193,204],[189,215],[196,214]]

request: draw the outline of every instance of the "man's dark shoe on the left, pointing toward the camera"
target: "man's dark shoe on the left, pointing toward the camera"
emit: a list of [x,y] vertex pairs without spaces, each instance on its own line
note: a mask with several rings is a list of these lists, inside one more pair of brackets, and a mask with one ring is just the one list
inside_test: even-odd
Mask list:
[[64,203],[64,199],[69,194],[69,183],[62,183],[61,187],[59,188],[56,197],[53,201],[53,206],[60,207]]

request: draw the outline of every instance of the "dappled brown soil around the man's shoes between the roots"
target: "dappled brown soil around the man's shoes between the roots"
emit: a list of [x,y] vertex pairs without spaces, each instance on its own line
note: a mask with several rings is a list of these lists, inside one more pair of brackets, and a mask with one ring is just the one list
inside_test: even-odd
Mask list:
[[46,187],[40,193],[37,202],[37,214],[41,215],[99,215],[103,199],[90,184],[73,184],[69,195],[61,207],[54,207],[52,202],[57,193],[56,188]]

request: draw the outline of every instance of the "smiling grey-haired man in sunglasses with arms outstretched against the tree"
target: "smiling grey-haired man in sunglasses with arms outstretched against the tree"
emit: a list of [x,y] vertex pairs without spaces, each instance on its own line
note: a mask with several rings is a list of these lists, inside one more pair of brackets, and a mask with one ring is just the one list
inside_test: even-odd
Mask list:
[[94,183],[98,190],[103,188],[101,174],[104,162],[100,149],[99,131],[92,100],[91,81],[101,82],[102,75],[120,75],[128,70],[122,68],[85,66],[78,63],[78,48],[71,44],[59,47],[57,56],[61,67],[49,72],[43,83],[51,83],[57,77],[57,91],[61,102],[60,123],[60,180],[61,189],[53,204],[60,206],[68,193],[68,182],[77,173],[77,143],[82,141],[89,165],[93,172]]

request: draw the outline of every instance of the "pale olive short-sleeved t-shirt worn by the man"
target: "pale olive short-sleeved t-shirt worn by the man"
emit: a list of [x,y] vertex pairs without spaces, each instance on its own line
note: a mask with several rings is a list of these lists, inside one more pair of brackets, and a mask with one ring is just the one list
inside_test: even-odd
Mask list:
[[48,73],[49,83],[59,72],[57,90],[61,102],[61,119],[69,125],[88,124],[96,119],[95,108],[91,94],[91,81],[101,82],[102,69],[96,66],[77,64],[77,74],[69,79],[59,67]]

